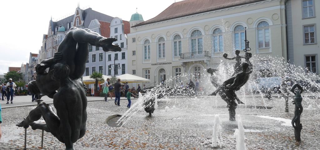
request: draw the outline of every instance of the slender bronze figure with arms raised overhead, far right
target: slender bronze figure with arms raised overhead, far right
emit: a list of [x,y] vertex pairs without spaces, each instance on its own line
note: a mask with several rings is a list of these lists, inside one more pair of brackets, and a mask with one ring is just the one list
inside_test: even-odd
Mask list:
[[[298,91],[295,91],[295,89],[298,88]],[[299,91],[300,90],[300,91]],[[294,94],[294,100],[292,101],[293,104],[295,104],[294,109],[294,117],[291,121],[292,127],[294,128],[294,138],[296,141],[300,142],[301,138],[301,130],[302,130],[302,124],[300,123],[300,115],[303,111],[303,107],[301,104],[302,97],[301,93],[303,92],[303,88],[298,83],[294,83],[290,91]]]

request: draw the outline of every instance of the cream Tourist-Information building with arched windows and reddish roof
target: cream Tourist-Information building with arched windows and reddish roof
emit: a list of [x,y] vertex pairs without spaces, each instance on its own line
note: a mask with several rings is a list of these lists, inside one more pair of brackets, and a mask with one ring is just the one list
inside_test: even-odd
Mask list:
[[149,78],[147,87],[180,74],[187,76],[173,85],[201,81],[206,68],[228,62],[223,53],[233,57],[235,49],[244,49],[245,28],[252,55],[287,59],[284,8],[284,0],[173,3],[153,19],[130,22],[128,73]]

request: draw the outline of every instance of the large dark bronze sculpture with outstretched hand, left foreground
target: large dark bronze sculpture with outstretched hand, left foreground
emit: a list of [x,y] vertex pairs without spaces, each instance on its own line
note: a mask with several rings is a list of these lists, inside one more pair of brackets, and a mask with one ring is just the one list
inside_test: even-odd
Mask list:
[[[82,138],[86,131],[87,98],[81,77],[89,53],[89,43],[102,47],[103,51],[121,51],[112,44],[115,38],[105,38],[89,29],[70,28],[53,58],[44,59],[36,66],[36,81],[30,82],[30,91],[53,98],[53,105],[40,103],[31,110],[19,127],[41,129],[52,133],[66,149],[73,149],[73,143]],[[49,72],[45,69],[49,68]],[[57,91],[59,89],[59,91]],[[44,118],[46,123],[35,122]]]

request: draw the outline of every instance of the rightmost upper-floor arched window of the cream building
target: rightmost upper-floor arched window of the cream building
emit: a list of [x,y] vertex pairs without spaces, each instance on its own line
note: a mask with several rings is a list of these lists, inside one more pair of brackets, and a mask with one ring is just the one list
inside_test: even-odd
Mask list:
[[258,24],[258,47],[270,47],[270,32],[269,24],[266,21],[261,21]]

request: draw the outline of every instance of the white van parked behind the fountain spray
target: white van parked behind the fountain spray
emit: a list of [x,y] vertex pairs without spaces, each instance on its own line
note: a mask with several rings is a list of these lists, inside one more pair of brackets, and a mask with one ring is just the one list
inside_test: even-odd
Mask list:
[[258,78],[255,80],[255,84],[251,85],[253,91],[262,89],[276,89],[281,85],[281,77],[268,77],[268,78]]

